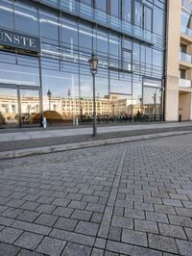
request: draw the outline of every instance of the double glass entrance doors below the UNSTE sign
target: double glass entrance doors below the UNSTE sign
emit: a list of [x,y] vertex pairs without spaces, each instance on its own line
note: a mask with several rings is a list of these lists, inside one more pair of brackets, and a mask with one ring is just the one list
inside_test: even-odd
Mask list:
[[39,89],[0,85],[0,128],[39,126]]

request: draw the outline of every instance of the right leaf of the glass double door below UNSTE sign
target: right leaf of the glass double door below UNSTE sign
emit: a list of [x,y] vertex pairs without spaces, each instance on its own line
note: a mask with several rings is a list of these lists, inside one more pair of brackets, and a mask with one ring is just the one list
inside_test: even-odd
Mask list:
[[39,126],[39,90],[19,89],[19,102],[21,126]]

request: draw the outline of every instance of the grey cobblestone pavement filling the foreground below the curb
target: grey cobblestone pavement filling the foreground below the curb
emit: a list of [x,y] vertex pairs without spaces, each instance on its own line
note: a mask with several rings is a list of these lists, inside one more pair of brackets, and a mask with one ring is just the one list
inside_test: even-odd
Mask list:
[[1,161],[0,255],[192,255],[192,135]]

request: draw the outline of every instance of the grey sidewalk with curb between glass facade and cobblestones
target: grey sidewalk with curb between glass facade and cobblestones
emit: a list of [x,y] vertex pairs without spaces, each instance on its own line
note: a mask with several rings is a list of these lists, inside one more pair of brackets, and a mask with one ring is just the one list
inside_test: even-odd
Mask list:
[[192,122],[163,122],[90,127],[30,128],[0,131],[0,159],[80,149],[125,141],[141,141],[192,133]]

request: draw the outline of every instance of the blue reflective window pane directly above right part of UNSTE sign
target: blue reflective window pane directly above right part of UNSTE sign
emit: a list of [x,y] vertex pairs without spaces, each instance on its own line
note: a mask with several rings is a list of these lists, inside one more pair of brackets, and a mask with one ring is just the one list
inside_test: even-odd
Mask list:
[[[38,35],[37,10],[32,6],[26,6],[19,2],[14,3],[15,29]],[[30,29],[29,29],[30,28]]]

